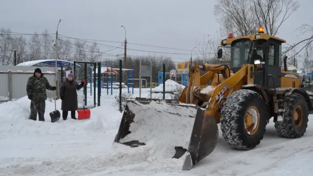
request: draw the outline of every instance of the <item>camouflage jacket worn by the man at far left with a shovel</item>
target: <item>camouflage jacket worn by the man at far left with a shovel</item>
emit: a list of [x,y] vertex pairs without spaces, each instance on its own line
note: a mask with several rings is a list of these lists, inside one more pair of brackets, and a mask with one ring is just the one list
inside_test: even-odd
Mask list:
[[27,80],[26,92],[27,96],[32,96],[33,100],[46,100],[46,90],[52,90],[52,86],[49,84],[45,76],[37,78],[36,76],[31,76]]

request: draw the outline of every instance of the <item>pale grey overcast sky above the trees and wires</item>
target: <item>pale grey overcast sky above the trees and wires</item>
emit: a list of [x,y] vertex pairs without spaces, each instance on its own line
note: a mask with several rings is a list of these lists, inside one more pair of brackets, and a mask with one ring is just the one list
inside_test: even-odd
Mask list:
[[[312,0],[299,0],[300,8],[281,26],[278,37],[293,43],[299,40],[295,28],[313,25]],[[55,33],[83,39],[127,42],[191,50],[203,35],[214,34],[219,24],[213,14],[215,0],[0,0],[0,27],[13,32]],[[118,43],[103,43],[119,46]],[[167,54],[176,62],[190,58],[190,51],[128,44],[128,48],[186,55]],[[108,47],[100,47],[106,51]],[[109,51],[122,54],[122,49]],[[148,53],[127,50],[130,55]],[[105,58],[105,57],[103,57]],[[112,57],[108,57],[112,58]]]

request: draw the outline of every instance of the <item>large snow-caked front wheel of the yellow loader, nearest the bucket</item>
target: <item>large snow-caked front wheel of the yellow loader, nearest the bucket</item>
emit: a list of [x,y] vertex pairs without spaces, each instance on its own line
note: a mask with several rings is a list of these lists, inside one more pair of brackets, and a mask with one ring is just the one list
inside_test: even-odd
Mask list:
[[[221,130],[230,146],[249,150],[260,144],[269,116],[260,94],[249,89],[235,91],[227,97],[221,112]],[[253,112],[256,112],[254,116]],[[253,117],[256,117],[254,123]]]

